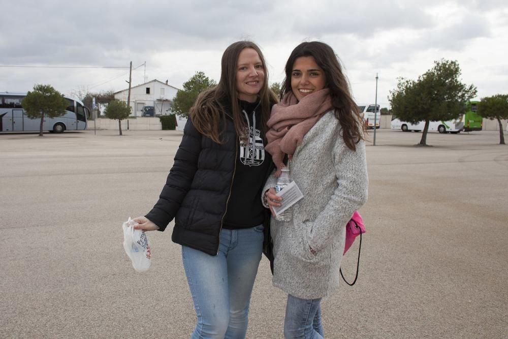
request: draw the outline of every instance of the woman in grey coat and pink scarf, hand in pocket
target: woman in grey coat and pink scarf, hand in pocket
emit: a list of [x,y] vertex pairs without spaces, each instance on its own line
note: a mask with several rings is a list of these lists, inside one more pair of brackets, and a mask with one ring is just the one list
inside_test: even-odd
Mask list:
[[[322,338],[321,299],[338,287],[345,226],[367,200],[365,128],[327,44],[297,46],[285,75],[265,149],[278,173],[290,160],[303,199],[291,207],[291,221],[272,218],[273,284],[288,293],[284,336]],[[266,182],[265,207],[283,204],[275,195],[276,181],[273,175]]]

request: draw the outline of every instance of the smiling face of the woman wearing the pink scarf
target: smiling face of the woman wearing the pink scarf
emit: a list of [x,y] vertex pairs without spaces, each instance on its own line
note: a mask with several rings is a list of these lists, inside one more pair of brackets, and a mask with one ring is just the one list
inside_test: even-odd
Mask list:
[[291,89],[298,101],[325,86],[325,72],[317,66],[313,56],[300,56],[295,60],[291,72]]

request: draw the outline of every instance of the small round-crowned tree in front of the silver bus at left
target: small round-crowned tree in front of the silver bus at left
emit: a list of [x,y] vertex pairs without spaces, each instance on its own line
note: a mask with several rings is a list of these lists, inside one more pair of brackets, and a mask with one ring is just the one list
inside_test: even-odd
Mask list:
[[41,119],[41,129],[39,136],[42,137],[44,118],[56,118],[65,114],[69,105],[67,100],[62,97],[59,91],[51,85],[35,85],[34,90],[28,92],[23,98],[21,105],[25,114],[30,119]]

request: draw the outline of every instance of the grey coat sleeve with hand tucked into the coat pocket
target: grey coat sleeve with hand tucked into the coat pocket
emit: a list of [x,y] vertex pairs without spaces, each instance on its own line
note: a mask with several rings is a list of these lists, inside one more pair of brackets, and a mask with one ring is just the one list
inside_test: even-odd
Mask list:
[[355,210],[367,201],[368,175],[365,158],[365,142],[356,145],[356,151],[345,146],[334,149],[334,170],[337,188],[325,208],[313,221],[306,222],[308,233],[307,243],[319,252],[325,248],[340,227],[345,227]]

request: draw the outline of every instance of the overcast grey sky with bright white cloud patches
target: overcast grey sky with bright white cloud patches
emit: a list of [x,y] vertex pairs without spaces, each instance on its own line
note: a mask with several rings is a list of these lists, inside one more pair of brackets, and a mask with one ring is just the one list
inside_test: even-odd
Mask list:
[[377,102],[388,106],[398,77],[417,79],[441,58],[459,62],[478,98],[508,94],[505,0],[17,0],[2,13],[0,91],[37,83],[65,94],[118,91],[128,87],[130,61],[133,85],[146,77],[181,88],[196,71],[218,81],[226,47],[249,39],[265,55],[270,83],[282,81],[302,41],[329,44],[358,103],[374,102],[376,73]]

